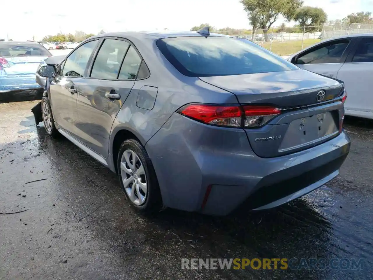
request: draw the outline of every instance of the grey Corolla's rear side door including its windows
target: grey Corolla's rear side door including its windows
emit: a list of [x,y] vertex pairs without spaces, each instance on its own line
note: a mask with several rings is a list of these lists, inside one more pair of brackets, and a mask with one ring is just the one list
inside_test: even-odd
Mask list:
[[114,119],[135,84],[142,58],[127,40],[108,37],[79,86],[78,139],[107,157]]

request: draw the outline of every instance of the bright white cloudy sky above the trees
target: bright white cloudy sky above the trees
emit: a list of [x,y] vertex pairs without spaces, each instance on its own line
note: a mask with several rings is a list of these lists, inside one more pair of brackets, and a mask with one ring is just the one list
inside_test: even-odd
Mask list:
[[[105,31],[189,30],[209,23],[217,28],[250,28],[239,0],[104,0],[104,1],[2,1],[0,37],[40,40],[59,31],[97,34]],[[352,12],[373,12],[373,0],[304,0],[322,7],[328,19],[341,19]],[[283,22],[279,19],[275,25]],[[288,24],[291,25],[291,24]],[[1,39],[1,38],[0,38]]]

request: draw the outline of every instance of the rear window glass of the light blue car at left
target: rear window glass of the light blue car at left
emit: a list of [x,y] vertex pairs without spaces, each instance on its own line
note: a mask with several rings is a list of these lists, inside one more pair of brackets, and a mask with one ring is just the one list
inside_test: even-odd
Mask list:
[[0,56],[48,56],[51,53],[40,44],[0,43]]

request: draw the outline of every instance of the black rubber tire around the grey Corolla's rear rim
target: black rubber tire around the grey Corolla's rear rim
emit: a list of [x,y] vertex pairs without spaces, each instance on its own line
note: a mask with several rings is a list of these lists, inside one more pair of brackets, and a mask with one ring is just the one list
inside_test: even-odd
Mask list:
[[[120,162],[122,159],[122,155],[126,150],[134,151],[137,154],[145,170],[147,194],[145,196],[145,201],[141,205],[138,205],[132,202],[123,184]],[[153,164],[151,163],[148,153],[146,152],[144,146],[142,146],[142,144],[138,140],[135,140],[135,139],[125,140],[122,143],[122,145],[120,145],[118,158],[117,158],[117,168],[118,168],[120,186],[122,187],[127,197],[127,200],[131,203],[131,206],[144,214],[159,212],[162,208],[163,203],[162,203],[162,196],[160,193],[156,172],[154,171],[154,167],[153,167]],[[134,184],[132,184],[132,187],[135,187]]]

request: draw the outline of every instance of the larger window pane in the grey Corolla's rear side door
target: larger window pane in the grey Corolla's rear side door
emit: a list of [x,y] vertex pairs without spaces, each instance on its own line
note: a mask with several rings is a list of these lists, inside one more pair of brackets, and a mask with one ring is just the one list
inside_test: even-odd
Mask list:
[[128,46],[126,41],[106,39],[97,53],[90,77],[116,80]]

